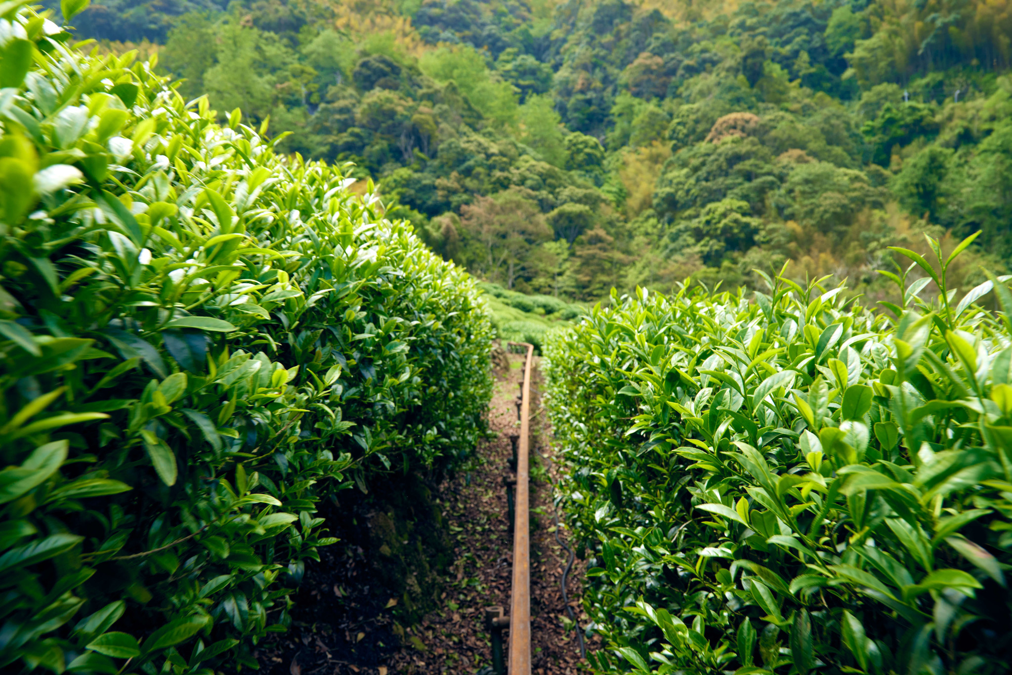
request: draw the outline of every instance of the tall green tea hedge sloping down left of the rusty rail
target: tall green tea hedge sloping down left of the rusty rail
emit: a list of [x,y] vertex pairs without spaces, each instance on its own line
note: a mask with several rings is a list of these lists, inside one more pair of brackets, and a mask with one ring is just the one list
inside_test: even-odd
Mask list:
[[0,4],[0,669],[256,667],[335,541],[319,500],[452,469],[483,433],[490,321],[340,169],[20,4]]

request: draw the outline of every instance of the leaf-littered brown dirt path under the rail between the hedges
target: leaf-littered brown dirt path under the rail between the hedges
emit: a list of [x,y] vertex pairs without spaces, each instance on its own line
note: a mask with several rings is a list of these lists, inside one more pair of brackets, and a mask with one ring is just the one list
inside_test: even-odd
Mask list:
[[[536,363],[536,359],[535,359]],[[482,618],[486,606],[509,607],[512,538],[503,479],[512,476],[509,435],[518,433],[514,399],[522,378],[522,357],[510,355],[489,407],[495,436],[480,444],[471,471],[435,490],[435,503],[449,534],[451,561],[440,575],[436,608],[408,625],[403,607],[385,592],[382,569],[364,554],[362,518],[335,510],[335,534],[342,542],[321,551],[321,563],[307,567],[292,610],[292,626],[258,651],[271,675],[413,675],[476,673],[491,665],[490,637]],[[552,484],[556,466],[546,442],[551,430],[539,411],[537,375],[531,411],[531,641],[535,675],[585,672],[575,630],[568,621],[560,580],[568,554],[555,538]],[[341,515],[338,516],[337,514]],[[328,516],[327,513],[321,515]],[[341,521],[337,522],[336,518]],[[330,524],[330,523],[328,523]],[[568,532],[560,530],[566,540]],[[356,543],[356,537],[363,541]],[[335,554],[343,552],[338,558]],[[567,591],[586,625],[580,605],[583,565],[576,560]],[[508,610],[508,609],[507,609]],[[564,619],[563,617],[566,617]]]

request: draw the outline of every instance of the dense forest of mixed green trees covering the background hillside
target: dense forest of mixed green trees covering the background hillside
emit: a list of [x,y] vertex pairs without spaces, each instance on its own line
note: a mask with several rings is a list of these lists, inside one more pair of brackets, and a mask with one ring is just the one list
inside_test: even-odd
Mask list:
[[981,232],[964,288],[1012,256],[1008,0],[101,0],[74,24],[353,163],[514,291],[786,264],[879,300],[887,247],[927,253],[921,233]]

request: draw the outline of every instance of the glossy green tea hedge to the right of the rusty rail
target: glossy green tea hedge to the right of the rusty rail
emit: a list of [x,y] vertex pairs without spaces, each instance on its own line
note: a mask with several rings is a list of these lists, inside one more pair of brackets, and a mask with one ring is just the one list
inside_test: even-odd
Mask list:
[[1009,672],[1012,293],[955,302],[967,244],[896,249],[896,320],[766,277],[613,296],[551,337],[597,671]]

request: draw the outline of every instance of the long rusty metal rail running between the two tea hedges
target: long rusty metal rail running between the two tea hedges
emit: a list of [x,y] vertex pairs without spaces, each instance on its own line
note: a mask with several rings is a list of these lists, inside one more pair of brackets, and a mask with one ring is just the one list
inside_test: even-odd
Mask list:
[[520,438],[516,445],[516,497],[513,506],[513,587],[509,612],[509,675],[530,675],[530,368],[534,345],[527,348],[520,394]]

